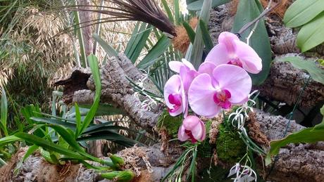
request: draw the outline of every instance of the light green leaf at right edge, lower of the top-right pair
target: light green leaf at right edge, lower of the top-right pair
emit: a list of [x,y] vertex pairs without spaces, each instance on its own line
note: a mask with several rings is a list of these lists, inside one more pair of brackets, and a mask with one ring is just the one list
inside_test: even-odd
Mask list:
[[324,41],[324,11],[307,23],[298,33],[297,46],[302,52],[322,44]]

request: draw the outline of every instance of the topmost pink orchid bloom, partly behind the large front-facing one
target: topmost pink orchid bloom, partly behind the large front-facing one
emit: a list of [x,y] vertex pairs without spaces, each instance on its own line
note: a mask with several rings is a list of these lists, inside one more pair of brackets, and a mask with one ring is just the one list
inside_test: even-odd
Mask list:
[[262,70],[262,60],[248,44],[240,41],[239,38],[230,32],[223,32],[218,37],[216,45],[205,62],[212,62],[216,65],[230,64],[243,67],[247,72],[257,74]]

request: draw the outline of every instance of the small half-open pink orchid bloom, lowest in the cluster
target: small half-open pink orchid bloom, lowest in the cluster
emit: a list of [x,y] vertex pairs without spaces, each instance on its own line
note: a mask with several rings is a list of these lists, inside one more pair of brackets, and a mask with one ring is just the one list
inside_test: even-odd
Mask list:
[[206,138],[206,128],[204,122],[199,117],[187,116],[180,126],[177,133],[179,141],[191,140],[192,143],[197,141],[204,141]]

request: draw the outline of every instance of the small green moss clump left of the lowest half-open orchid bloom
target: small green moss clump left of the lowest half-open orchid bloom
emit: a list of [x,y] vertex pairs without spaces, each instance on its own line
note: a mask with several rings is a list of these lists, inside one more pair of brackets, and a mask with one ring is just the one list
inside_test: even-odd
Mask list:
[[182,115],[173,117],[167,110],[164,110],[161,116],[158,117],[158,130],[164,129],[168,132],[168,135],[177,136],[177,131],[179,130],[182,121]]

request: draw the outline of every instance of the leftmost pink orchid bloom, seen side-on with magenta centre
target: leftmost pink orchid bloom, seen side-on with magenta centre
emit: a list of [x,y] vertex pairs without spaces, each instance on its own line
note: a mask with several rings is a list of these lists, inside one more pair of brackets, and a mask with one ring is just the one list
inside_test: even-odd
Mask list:
[[179,75],[173,75],[166,82],[164,86],[164,100],[166,100],[166,105],[171,116],[180,115],[182,112],[187,115],[188,101]]

